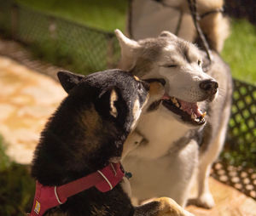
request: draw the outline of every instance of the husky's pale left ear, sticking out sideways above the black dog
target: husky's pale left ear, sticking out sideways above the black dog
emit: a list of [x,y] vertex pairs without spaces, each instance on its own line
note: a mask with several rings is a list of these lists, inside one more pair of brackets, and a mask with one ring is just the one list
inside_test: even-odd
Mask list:
[[135,64],[134,54],[136,53],[137,49],[140,48],[140,45],[136,41],[125,37],[125,35],[122,33],[122,31],[119,31],[119,29],[116,29],[114,32],[121,47],[122,56],[120,66],[123,70],[129,71]]

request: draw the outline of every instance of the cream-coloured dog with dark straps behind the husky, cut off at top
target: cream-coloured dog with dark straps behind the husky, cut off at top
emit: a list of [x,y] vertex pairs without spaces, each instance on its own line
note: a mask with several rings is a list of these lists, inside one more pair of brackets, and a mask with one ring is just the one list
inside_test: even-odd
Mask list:
[[[224,0],[197,0],[199,24],[212,50],[220,52],[229,36],[229,20],[222,14]],[[131,0],[129,33],[138,40],[171,31],[189,42],[198,42],[188,0]]]

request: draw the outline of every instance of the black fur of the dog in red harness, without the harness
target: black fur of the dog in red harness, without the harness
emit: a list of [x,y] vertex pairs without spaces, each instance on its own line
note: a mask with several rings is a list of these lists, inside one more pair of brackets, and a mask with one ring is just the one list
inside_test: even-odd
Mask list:
[[[134,102],[139,99],[142,106],[149,88],[147,82],[120,70],[88,77],[59,72],[58,77],[68,96],[46,124],[32,163],[32,176],[50,186],[67,184],[120,158],[135,121]],[[118,96],[113,101],[116,116],[111,114],[112,91]],[[160,215],[160,211],[166,213],[162,201],[133,207],[119,184],[106,193],[94,187],[84,190],[44,215],[149,216]]]

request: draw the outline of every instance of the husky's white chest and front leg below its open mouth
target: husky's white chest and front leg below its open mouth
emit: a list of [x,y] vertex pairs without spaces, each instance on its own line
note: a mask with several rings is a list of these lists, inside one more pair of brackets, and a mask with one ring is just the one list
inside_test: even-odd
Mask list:
[[[183,147],[176,146],[181,145],[176,142],[188,133],[189,127],[177,122],[165,109],[160,106],[158,111],[141,118],[137,129],[148,142],[131,151],[125,157],[124,166],[134,176],[131,178],[132,195],[138,202],[168,195],[184,205],[185,194],[189,191],[180,189],[191,179],[196,167],[198,145],[186,140]],[[152,190],[156,186],[157,190]]]

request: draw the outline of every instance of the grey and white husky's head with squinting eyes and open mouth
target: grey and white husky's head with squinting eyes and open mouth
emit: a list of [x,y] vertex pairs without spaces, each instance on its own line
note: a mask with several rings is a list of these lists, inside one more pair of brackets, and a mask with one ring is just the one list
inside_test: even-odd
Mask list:
[[202,113],[197,103],[214,99],[218,82],[202,70],[199,49],[168,31],[138,42],[118,30],[115,32],[122,50],[122,69],[147,79],[164,78],[166,94],[162,105],[178,121],[204,124],[206,113]]

